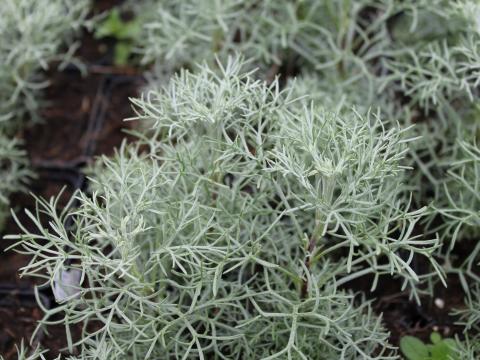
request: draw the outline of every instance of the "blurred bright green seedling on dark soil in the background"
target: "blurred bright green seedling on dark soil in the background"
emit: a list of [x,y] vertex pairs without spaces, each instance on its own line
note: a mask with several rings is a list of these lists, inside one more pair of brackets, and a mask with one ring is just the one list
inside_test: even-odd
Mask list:
[[115,65],[126,65],[132,54],[133,41],[138,37],[141,30],[138,18],[124,20],[118,9],[110,11],[95,31],[95,37],[114,38],[116,40],[114,48]]

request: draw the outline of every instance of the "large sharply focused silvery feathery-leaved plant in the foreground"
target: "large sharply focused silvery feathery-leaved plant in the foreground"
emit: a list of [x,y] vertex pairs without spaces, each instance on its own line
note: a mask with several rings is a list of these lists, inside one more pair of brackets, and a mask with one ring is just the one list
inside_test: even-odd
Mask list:
[[8,237],[33,255],[24,275],[53,286],[81,271],[41,324],[65,324],[82,358],[397,358],[370,302],[344,285],[391,276],[416,295],[414,256],[442,276],[438,239],[413,234],[424,209],[404,200],[414,139],[244,67],[183,70],[133,99],[151,130],[99,160],[77,209],[39,199],[27,212],[37,229]]

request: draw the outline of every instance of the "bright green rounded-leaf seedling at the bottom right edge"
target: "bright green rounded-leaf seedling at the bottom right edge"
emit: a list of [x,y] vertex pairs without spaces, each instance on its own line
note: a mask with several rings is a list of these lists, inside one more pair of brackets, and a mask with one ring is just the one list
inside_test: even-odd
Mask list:
[[415,336],[404,336],[400,340],[400,350],[407,360],[457,360],[457,344],[452,338],[442,339],[433,332],[430,335],[431,344],[425,344]]

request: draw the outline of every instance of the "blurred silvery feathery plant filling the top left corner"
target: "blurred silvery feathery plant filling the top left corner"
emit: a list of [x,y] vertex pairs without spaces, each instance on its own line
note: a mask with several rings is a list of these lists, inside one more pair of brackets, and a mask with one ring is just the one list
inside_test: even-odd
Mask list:
[[[65,43],[83,26],[89,0],[5,0],[0,8],[0,124],[38,119],[40,76],[54,61],[64,60]],[[9,120],[10,119],[10,120]]]

